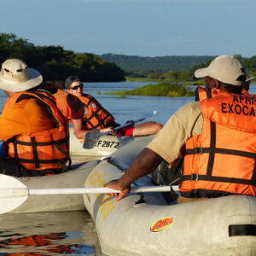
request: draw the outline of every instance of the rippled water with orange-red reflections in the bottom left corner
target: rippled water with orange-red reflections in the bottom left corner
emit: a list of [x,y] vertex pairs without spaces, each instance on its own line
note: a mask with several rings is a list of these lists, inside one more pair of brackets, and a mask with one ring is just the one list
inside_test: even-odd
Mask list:
[[0,216],[0,255],[100,255],[88,212],[38,212]]

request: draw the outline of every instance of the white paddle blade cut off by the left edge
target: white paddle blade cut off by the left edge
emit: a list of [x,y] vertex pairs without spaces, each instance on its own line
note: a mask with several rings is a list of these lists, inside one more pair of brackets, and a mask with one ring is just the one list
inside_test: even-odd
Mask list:
[[[20,191],[23,191],[20,193]],[[0,174],[0,214],[10,212],[26,201],[26,185],[11,176]]]

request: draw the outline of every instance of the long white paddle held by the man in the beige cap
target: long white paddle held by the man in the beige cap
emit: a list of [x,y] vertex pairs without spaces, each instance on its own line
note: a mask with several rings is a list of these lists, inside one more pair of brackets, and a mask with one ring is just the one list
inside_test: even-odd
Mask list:
[[[67,189],[28,189],[15,177],[0,174],[0,214],[10,212],[25,202],[29,195],[71,195],[71,194],[108,194],[119,193],[109,188],[67,188]],[[172,187],[178,191],[177,186]],[[131,193],[170,192],[170,186],[137,186]],[[39,200],[39,199],[38,199]]]

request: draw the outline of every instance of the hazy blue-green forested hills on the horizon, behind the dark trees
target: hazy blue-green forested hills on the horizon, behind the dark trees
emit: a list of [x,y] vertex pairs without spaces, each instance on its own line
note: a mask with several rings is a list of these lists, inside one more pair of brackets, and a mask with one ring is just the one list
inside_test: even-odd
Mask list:
[[106,61],[113,61],[118,67],[121,67],[125,72],[145,71],[145,72],[166,72],[168,70],[189,71],[189,69],[201,63],[213,59],[213,55],[203,56],[156,56],[156,57],[141,57],[137,55],[114,55],[104,54],[99,57]]

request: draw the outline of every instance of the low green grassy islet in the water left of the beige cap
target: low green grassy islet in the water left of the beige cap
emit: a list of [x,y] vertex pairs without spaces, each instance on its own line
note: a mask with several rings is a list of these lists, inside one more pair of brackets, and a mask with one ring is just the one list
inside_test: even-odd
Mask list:
[[194,90],[177,83],[147,84],[133,90],[108,92],[108,95],[125,96],[195,96]]

